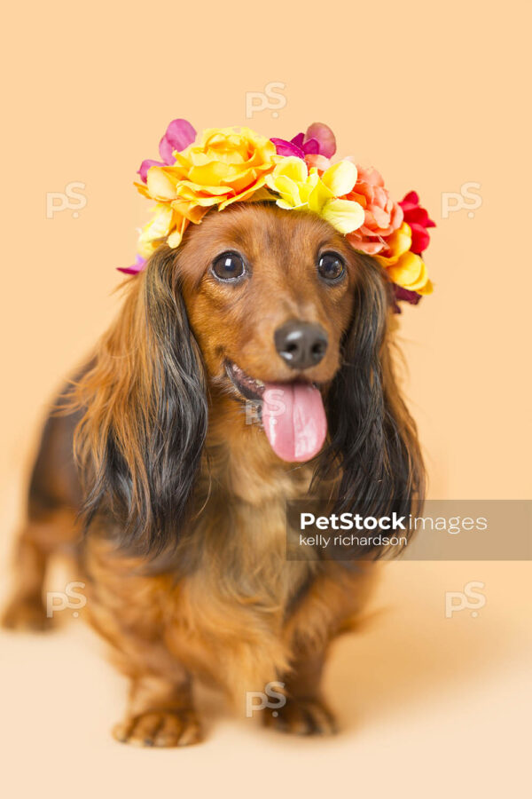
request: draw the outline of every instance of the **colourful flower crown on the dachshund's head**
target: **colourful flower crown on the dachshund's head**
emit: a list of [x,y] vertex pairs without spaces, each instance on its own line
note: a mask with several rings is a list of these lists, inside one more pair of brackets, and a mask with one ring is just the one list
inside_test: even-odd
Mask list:
[[137,262],[121,272],[141,272],[163,241],[177,247],[187,226],[200,224],[214,207],[270,200],[317,213],[354,249],[375,257],[396,300],[416,305],[432,292],[421,253],[434,222],[418,194],[395,202],[377,170],[357,166],[350,156],[332,162],[336,140],[327,125],[314,123],[286,141],[249,128],[210,128],[197,136],[191,123],[175,119],[159,152],[162,161],[143,161],[138,170],[138,191],[156,204],[139,237]]

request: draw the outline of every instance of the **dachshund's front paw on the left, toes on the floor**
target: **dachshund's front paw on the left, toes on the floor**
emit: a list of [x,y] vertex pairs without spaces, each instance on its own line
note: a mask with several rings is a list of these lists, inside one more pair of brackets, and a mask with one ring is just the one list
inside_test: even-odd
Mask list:
[[188,747],[203,740],[193,710],[152,710],[117,724],[113,736],[137,747]]

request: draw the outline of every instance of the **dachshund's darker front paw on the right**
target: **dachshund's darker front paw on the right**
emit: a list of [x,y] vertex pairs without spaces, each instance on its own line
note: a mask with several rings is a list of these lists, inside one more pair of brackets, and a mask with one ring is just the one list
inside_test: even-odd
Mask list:
[[264,724],[295,735],[332,735],[337,732],[334,716],[317,697],[288,697],[282,708],[265,710]]

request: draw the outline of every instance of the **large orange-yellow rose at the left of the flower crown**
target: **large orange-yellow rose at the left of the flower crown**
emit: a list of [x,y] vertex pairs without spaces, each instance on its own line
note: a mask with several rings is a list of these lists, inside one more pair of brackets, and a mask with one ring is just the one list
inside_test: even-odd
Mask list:
[[163,229],[169,246],[177,247],[189,222],[199,224],[213,206],[223,210],[231,202],[251,199],[277,160],[275,145],[249,128],[208,129],[174,157],[171,166],[148,170],[146,185],[137,184],[141,194],[157,202],[141,234],[145,251],[155,249]]

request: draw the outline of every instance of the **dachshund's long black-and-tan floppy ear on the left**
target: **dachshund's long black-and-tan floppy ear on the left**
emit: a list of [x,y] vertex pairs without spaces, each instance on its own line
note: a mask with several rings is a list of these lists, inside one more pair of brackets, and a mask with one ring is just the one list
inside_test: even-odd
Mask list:
[[121,546],[156,555],[176,543],[190,508],[207,431],[206,380],[176,251],[158,249],[128,289],[74,386],[85,410],[74,449],[86,526],[110,514]]

